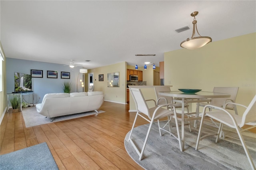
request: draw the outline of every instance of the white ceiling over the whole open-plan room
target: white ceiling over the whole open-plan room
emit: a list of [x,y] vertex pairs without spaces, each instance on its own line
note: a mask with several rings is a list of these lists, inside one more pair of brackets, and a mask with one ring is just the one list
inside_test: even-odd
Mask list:
[[[0,7],[6,57],[63,65],[72,59],[86,69],[122,61],[159,66],[164,52],[181,49],[180,42],[192,36],[194,11],[200,35],[213,42],[256,32],[255,0],[1,0]],[[174,31],[184,26],[190,30]]]

